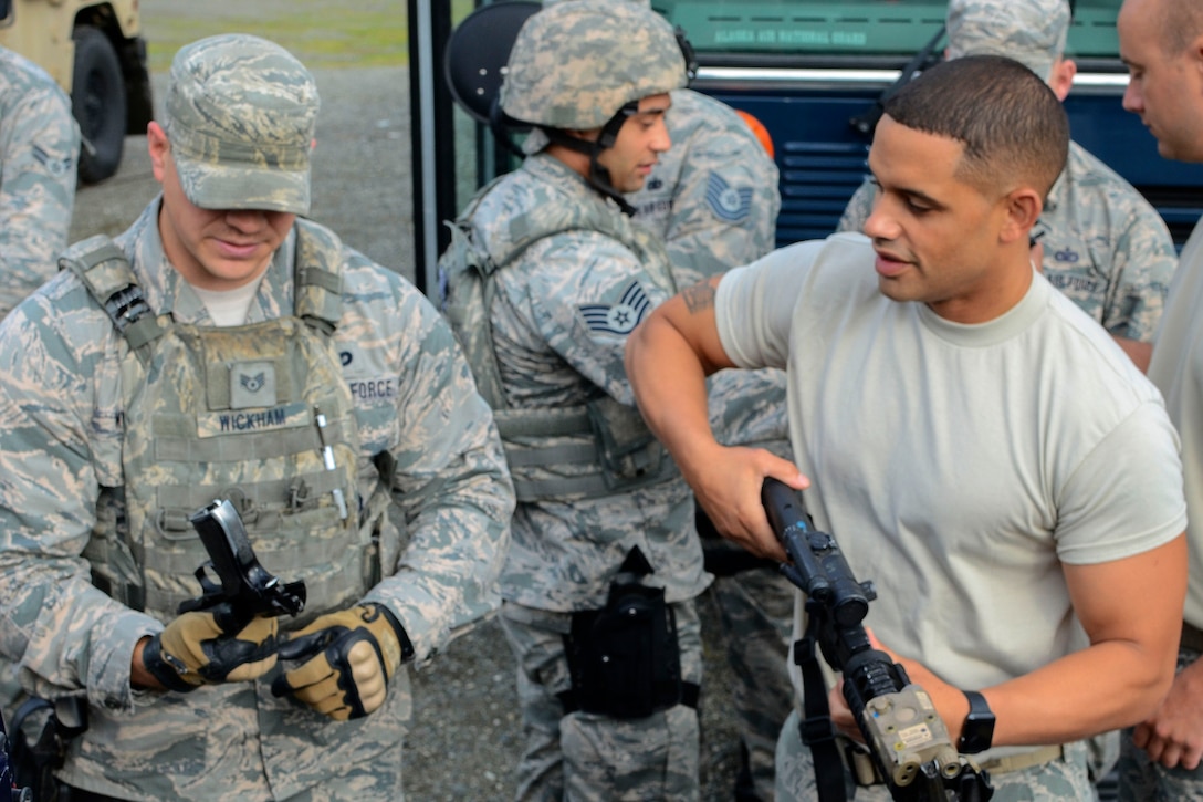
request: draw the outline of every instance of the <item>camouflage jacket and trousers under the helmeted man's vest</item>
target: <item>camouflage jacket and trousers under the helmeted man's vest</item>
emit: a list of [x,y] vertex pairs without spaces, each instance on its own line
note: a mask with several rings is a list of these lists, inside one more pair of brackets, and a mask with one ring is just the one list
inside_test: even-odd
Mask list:
[[[499,249],[515,217],[585,205],[608,201],[558,160],[546,154],[529,157],[484,199],[474,216],[478,241],[490,250]],[[620,224],[630,225],[612,205],[608,211]],[[666,281],[663,249],[650,236],[644,242],[644,253],[632,253],[597,232],[565,232],[540,240],[498,273],[491,319],[503,385],[516,406],[557,409],[582,403],[598,391],[634,403],[622,364],[626,335],[674,289]],[[629,301],[632,295],[638,302]],[[618,330],[588,314],[589,308],[624,303],[635,312]],[[700,683],[701,643],[692,600],[709,577],[693,533],[688,486],[674,477],[597,499],[522,502],[512,532],[500,589],[506,601],[502,620],[520,662],[528,732],[527,754],[518,768],[520,798],[558,798],[561,788],[570,798],[593,798],[586,789],[599,778],[577,785],[574,769],[598,761],[573,749],[573,743],[587,741],[567,742],[568,727],[593,729],[593,738],[603,741],[598,748],[611,753],[600,762],[622,767],[614,769],[605,790],[593,786],[600,792],[597,798],[647,788],[647,778],[626,765],[639,760],[659,767],[645,769],[660,778],[652,786],[658,789],[653,796],[691,798],[698,782],[694,710],[677,706],[654,714],[654,720],[616,721],[581,712],[564,715],[557,698],[569,688],[562,638],[569,613],[603,607],[620,566],[636,546],[654,570],[648,582],[663,586],[665,600],[674,603],[682,679]],[[668,737],[669,732],[676,735]],[[665,765],[665,749],[691,741],[693,754],[677,755]],[[660,786],[666,768],[680,777]]]

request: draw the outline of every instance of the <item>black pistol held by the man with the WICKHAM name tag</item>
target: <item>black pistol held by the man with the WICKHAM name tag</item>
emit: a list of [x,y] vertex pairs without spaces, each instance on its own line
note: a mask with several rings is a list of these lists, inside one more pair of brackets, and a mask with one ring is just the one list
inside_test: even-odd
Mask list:
[[[229,602],[239,615],[296,615],[304,609],[303,580],[282,583],[259,565],[242,518],[229,500],[218,500],[192,513],[190,520],[209,560],[196,570],[202,595],[180,602],[179,612],[208,609]],[[209,578],[208,571],[218,582]]]

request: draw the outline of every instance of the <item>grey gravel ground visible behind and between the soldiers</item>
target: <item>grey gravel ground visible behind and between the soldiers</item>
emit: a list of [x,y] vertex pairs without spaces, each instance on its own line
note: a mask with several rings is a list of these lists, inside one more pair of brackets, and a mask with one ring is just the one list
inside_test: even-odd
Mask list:
[[[398,0],[375,2],[390,4],[403,13]],[[217,5],[221,13],[232,13],[248,4],[221,0]],[[156,30],[177,35],[179,19],[195,14],[197,7],[185,0],[146,0],[148,36],[154,37]],[[203,7],[208,14],[209,4]],[[286,13],[292,7],[291,0],[256,2],[255,13]],[[322,111],[313,166],[313,217],[350,246],[413,278],[408,71],[403,66],[348,66],[315,69],[314,73]],[[155,73],[156,102],[162,99],[164,79],[161,71]],[[158,193],[146,137],[128,137],[125,145],[113,178],[81,188],[72,240],[118,234]],[[704,626],[713,631],[716,618],[709,605],[703,613]],[[717,645],[707,639],[705,647],[704,798],[717,802],[731,798],[736,747],[727,715],[730,678]],[[510,798],[522,736],[514,661],[497,623],[486,623],[452,643],[414,683],[415,719],[407,750],[409,798]]]

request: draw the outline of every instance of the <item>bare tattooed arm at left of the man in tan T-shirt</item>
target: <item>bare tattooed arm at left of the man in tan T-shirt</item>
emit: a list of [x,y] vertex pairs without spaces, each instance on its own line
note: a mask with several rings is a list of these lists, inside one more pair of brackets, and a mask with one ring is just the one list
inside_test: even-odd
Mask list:
[[635,330],[627,342],[627,376],[644,419],[718,530],[754,554],[784,559],[760,505],[760,485],[774,476],[801,489],[805,477],[769,452],[721,446],[710,429],[706,376],[735,367],[715,318],[718,282],[681,293]]

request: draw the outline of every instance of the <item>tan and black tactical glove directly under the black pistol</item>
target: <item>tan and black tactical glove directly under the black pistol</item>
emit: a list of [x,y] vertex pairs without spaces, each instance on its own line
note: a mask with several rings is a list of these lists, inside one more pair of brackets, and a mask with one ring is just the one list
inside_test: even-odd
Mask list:
[[184,613],[152,637],[142,651],[146,670],[173,691],[202,684],[247,682],[275,667],[277,621],[248,623],[229,603]]

